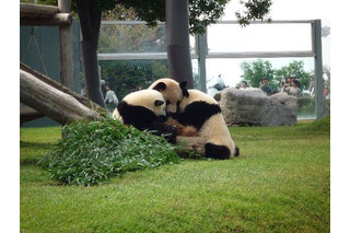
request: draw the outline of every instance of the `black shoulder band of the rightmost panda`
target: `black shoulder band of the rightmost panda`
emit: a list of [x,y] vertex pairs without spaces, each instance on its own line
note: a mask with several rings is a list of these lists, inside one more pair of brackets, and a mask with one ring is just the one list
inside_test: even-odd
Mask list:
[[178,121],[183,125],[194,126],[199,130],[211,116],[220,113],[221,108],[218,104],[210,104],[205,101],[192,102],[178,116]]

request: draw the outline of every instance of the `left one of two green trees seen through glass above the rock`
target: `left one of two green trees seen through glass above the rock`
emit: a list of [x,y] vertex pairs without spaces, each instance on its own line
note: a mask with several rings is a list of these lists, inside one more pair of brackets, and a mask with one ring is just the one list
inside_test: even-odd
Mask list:
[[277,82],[273,80],[275,70],[270,61],[264,61],[261,59],[255,61],[244,61],[241,63],[243,70],[243,80],[247,81],[249,86],[258,88],[262,78],[269,79],[269,85],[273,89],[277,88]]

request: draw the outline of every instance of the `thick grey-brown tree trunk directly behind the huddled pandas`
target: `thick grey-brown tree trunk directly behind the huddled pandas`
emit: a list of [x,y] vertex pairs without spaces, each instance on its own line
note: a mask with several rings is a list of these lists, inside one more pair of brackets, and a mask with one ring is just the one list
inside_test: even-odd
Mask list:
[[170,75],[177,82],[187,81],[194,88],[189,53],[188,0],[166,0],[166,39]]

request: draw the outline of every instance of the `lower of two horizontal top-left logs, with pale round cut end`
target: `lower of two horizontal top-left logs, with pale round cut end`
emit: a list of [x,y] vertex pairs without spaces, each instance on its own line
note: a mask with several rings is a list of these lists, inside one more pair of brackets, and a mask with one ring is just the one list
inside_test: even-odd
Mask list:
[[52,16],[21,16],[21,26],[70,26],[72,15],[70,13],[57,13]]

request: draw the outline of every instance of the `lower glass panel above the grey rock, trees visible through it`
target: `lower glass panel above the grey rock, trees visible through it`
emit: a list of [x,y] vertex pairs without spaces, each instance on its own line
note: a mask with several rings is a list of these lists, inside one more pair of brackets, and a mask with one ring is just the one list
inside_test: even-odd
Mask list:
[[[264,67],[269,67],[271,77],[269,86],[275,92],[281,92],[280,81],[288,75],[295,77],[301,83],[302,96],[298,98],[298,117],[299,118],[315,118],[315,98],[311,93],[311,78],[314,72],[313,58],[266,58],[266,59],[207,59],[207,89],[208,93],[212,92],[211,88],[218,82],[219,75],[224,82],[224,85],[230,88],[240,88],[242,81],[248,81],[249,88],[259,88],[258,82],[262,77],[257,77],[256,82],[249,81],[244,77],[243,63],[246,63],[250,70],[258,72],[257,69],[264,63]],[[266,65],[268,63],[268,65]],[[253,69],[256,66],[257,69]],[[266,73],[267,71],[262,71]],[[264,74],[261,74],[264,75]],[[253,84],[256,83],[256,84]]]

